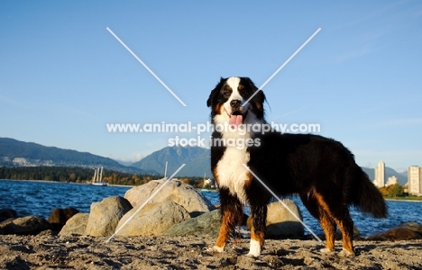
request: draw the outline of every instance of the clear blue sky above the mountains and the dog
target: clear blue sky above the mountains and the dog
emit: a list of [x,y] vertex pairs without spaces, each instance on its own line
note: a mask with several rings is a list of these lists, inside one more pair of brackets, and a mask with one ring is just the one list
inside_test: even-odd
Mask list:
[[206,122],[220,76],[261,85],[321,28],[265,85],[267,120],[422,166],[420,1],[2,1],[0,24],[0,137],[137,161],[175,134],[107,123]]

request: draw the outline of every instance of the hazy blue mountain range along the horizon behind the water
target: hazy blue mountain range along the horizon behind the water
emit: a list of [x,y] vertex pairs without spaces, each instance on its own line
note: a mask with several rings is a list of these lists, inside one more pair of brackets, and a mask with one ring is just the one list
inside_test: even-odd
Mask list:
[[[172,175],[182,164],[186,164],[176,175],[212,177],[210,150],[199,147],[166,147],[143,157],[140,161],[124,166],[117,161],[76,150],[45,147],[33,142],[0,138],[0,166],[104,166],[107,169],[143,175],[164,175],[166,162],[167,176]],[[362,167],[370,179],[374,179],[373,168]],[[408,182],[405,174],[400,174],[386,166],[385,177],[395,175],[399,184]]]

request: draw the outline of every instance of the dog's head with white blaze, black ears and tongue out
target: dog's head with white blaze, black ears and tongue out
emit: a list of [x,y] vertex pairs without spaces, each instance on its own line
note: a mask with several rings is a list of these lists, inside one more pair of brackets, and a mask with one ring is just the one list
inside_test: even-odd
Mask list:
[[[245,103],[252,95],[252,99]],[[238,126],[248,119],[263,121],[264,101],[265,95],[249,77],[231,76],[220,79],[216,88],[209,94],[206,105],[211,107],[214,124],[228,121]]]

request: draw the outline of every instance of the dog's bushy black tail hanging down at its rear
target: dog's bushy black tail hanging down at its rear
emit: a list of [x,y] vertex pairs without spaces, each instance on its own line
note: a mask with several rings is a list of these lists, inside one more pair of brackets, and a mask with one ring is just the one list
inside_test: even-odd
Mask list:
[[372,184],[368,175],[359,166],[356,167],[356,181],[353,194],[353,205],[365,214],[382,219],[388,215],[388,207],[381,192]]

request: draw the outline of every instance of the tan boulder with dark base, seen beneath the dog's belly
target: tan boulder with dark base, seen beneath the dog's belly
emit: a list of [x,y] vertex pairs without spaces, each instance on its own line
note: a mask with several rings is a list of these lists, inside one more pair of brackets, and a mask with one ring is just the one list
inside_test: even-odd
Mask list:
[[[293,211],[300,220],[303,220],[298,205],[291,200],[283,202]],[[247,221],[248,229],[252,227],[252,218]],[[303,225],[280,202],[268,205],[266,238],[301,237],[304,234]]]

